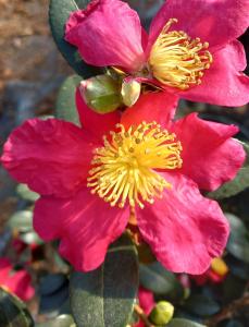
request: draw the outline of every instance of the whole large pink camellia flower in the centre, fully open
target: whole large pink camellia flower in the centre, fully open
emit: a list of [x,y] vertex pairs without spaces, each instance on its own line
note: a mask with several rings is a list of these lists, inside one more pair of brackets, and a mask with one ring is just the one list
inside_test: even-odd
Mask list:
[[231,138],[238,129],[196,113],[173,122],[176,99],[166,99],[149,93],[122,117],[100,116],[77,92],[82,128],[32,119],[5,143],[5,169],[41,195],[36,231],[61,239],[60,253],[77,270],[104,261],[129,217],[170,270],[201,274],[221,255],[228,222],[198,189],[215,190],[236,175],[245,160]]

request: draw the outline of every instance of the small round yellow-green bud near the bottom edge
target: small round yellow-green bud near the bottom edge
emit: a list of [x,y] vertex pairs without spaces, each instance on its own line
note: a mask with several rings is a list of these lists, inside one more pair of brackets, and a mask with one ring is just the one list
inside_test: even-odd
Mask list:
[[160,301],[149,315],[149,319],[155,325],[165,325],[170,323],[174,315],[174,306],[166,301]]

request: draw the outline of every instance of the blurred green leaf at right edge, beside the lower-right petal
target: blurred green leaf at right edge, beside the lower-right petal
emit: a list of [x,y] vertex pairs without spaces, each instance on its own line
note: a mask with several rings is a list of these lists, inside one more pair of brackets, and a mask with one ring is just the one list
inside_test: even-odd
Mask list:
[[225,216],[231,225],[227,251],[236,258],[249,263],[249,238],[245,223],[233,214],[225,214]]

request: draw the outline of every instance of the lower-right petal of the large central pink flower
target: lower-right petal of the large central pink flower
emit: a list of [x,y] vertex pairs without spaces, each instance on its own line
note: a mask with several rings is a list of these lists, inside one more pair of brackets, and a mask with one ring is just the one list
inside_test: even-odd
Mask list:
[[180,174],[163,173],[172,183],[163,198],[137,210],[138,227],[157,258],[175,272],[206,271],[222,254],[229,227],[219,204],[202,197],[196,183]]

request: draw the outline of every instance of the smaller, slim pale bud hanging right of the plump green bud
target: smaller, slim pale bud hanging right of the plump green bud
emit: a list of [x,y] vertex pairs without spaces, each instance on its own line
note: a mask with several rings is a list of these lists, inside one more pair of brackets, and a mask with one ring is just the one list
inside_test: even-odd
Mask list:
[[132,107],[139,98],[141,92],[141,84],[135,80],[124,80],[121,88],[123,102],[127,107]]

